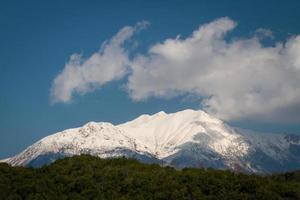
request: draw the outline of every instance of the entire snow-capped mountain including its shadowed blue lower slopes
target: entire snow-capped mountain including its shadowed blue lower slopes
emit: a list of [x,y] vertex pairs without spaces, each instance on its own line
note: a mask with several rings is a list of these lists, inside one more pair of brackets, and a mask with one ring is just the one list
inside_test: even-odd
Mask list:
[[45,137],[3,161],[41,166],[79,154],[127,156],[179,168],[283,172],[300,169],[300,136],[231,128],[200,110],[159,112],[120,125],[89,122]]

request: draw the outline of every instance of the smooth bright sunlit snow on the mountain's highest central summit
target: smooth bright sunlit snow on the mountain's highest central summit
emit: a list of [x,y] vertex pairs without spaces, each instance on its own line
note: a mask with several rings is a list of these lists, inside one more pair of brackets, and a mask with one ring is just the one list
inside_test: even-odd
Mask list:
[[[228,133],[223,122],[204,111],[183,110],[166,114],[142,115],[135,120],[118,125],[128,135],[148,146],[150,152],[158,158],[176,153],[176,147],[194,141],[198,133],[207,130],[218,132],[221,140],[211,144],[218,153],[225,153],[235,144],[236,135]],[[246,151],[246,148],[243,148]]]

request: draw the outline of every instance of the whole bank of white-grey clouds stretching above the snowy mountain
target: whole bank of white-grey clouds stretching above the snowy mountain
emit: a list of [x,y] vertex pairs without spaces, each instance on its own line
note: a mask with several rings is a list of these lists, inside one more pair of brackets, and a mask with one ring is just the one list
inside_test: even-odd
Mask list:
[[[273,37],[270,30],[227,38],[236,26],[230,18],[220,18],[132,59],[122,44],[136,28],[125,27],[85,62],[73,55],[54,80],[52,95],[67,102],[74,92],[84,94],[126,77],[136,101],[193,94],[204,110],[224,120],[300,122],[300,36],[264,46],[262,38]],[[122,32],[130,33],[121,37]]]

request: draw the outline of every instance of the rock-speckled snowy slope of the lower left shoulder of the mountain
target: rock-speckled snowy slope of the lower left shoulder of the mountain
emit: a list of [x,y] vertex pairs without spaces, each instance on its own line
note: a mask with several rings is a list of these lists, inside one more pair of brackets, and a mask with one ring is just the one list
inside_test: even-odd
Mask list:
[[110,123],[89,122],[83,127],[45,137],[7,161],[12,165],[27,165],[42,155],[92,154],[110,157],[119,156],[116,150],[120,149],[129,149],[143,154],[143,148],[144,146],[138,141],[126,136],[123,130]]

